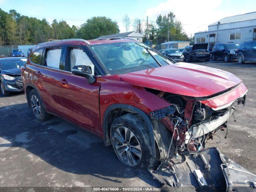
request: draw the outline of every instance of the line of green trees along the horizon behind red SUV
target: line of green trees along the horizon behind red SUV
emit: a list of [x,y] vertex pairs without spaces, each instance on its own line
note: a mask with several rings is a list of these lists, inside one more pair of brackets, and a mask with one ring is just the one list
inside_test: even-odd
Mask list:
[[[127,14],[123,17],[126,31],[132,28],[144,35],[148,32],[148,38],[153,44],[167,40],[169,28],[169,40],[188,40],[188,36],[182,30],[182,24],[176,20],[175,15],[170,12],[159,15],[156,22],[150,22],[148,29],[146,22],[136,18],[132,23]],[[92,17],[81,26],[69,26],[66,21],[53,20],[50,24],[44,18],[42,20],[19,14],[16,10],[5,12],[0,9],[0,45],[26,45],[39,44],[48,40],[56,39],[94,39],[99,36],[119,33],[116,21],[104,17]]]

